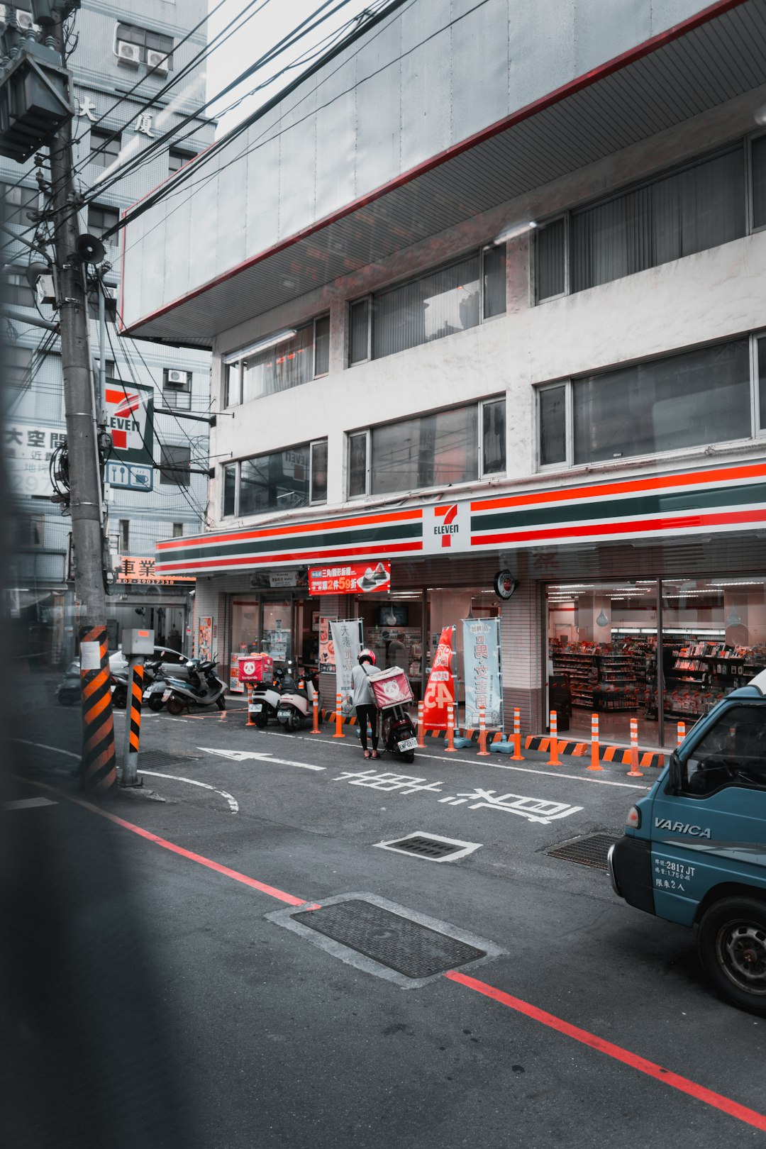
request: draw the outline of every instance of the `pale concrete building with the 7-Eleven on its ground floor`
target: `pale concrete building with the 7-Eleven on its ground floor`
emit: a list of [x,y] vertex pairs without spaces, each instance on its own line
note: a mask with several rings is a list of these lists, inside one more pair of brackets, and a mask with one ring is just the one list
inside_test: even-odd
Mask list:
[[761,0],[415,3],[129,226],[173,254],[126,330],[214,350],[212,529],[157,548],[214,647],[358,616],[421,691],[498,616],[506,726],[647,745],[766,666],[765,43]]

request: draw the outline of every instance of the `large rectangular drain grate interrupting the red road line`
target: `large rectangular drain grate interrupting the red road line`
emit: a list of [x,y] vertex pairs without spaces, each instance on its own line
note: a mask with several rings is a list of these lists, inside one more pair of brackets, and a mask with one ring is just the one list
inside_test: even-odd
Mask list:
[[292,918],[405,978],[430,978],[487,955],[361,899],[293,913]]

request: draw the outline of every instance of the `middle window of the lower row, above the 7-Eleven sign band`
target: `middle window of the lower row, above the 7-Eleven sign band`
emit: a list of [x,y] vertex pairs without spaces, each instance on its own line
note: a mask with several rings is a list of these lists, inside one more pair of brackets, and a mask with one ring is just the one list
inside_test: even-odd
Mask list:
[[470,483],[504,470],[504,399],[387,423],[372,427],[369,440],[366,431],[349,435],[349,499]]

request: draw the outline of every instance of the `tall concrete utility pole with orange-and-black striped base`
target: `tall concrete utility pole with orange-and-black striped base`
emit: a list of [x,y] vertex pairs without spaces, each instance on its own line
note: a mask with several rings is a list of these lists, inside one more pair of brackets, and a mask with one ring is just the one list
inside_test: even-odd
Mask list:
[[[63,21],[52,25],[64,61]],[[85,268],[77,249],[77,199],[72,180],[71,118],[51,141],[54,244],[59,273],[61,365],[69,454],[75,597],[79,610],[83,681],[83,779],[86,788],[116,784],[114,725],[103,581],[102,487],[93,368],[88,345]]]

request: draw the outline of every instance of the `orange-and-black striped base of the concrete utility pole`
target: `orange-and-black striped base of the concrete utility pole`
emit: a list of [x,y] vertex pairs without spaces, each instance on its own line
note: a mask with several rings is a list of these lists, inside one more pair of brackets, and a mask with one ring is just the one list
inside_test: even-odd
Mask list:
[[80,627],[79,651],[83,695],[79,773],[84,789],[108,794],[117,785],[117,759],[106,626]]

